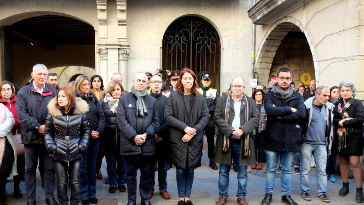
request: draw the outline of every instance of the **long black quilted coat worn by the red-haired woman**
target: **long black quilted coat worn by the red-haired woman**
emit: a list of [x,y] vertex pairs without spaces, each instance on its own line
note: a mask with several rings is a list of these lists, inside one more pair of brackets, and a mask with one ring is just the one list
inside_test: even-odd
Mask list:
[[[173,163],[176,167],[201,166],[203,129],[209,122],[209,108],[202,95],[194,96],[190,101],[190,108],[186,109],[183,92],[171,92],[168,97],[164,117],[170,126],[170,143]],[[188,119],[187,112],[190,112]],[[196,135],[185,143],[181,139],[186,134],[184,129],[189,126],[196,129]],[[188,162],[188,167],[186,167]]]

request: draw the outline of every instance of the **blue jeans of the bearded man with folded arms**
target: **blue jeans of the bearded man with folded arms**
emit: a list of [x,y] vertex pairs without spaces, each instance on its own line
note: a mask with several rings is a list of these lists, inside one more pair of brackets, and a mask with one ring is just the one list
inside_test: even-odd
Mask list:
[[281,157],[281,189],[282,196],[291,195],[292,160],[294,152],[264,150],[267,156],[265,170],[265,193],[273,194],[278,158]]

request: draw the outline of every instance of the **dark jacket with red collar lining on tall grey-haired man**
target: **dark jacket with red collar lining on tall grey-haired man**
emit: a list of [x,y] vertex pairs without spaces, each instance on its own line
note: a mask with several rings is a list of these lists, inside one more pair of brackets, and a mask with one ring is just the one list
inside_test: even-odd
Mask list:
[[40,125],[46,123],[48,102],[56,97],[57,90],[46,83],[42,94],[35,91],[33,80],[19,90],[15,108],[21,124],[21,143],[43,144],[44,135],[38,132]]

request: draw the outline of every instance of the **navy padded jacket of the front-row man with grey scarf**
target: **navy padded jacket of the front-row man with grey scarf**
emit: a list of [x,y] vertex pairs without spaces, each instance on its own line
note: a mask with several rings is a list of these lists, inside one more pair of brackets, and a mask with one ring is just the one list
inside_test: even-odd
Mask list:
[[[121,155],[154,155],[154,135],[161,128],[158,106],[154,97],[143,97],[148,114],[145,117],[137,117],[137,97],[126,93],[119,98],[118,124],[121,131],[120,154]],[[134,138],[137,135],[147,133],[145,142],[137,146]]]

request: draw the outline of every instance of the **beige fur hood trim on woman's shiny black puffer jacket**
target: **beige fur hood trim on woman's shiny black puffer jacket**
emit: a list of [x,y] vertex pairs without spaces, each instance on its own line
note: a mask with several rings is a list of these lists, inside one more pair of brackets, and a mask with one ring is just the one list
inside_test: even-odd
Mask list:
[[[54,97],[54,98],[52,98],[51,101],[49,101],[48,106],[47,106],[48,112],[54,117],[63,116],[63,112],[60,111],[56,107],[56,102],[57,102],[57,97]],[[88,110],[90,109],[88,107],[87,102],[82,100],[82,98],[80,98],[80,97],[76,97],[75,104],[76,104],[76,108],[72,113],[73,115],[79,115],[79,114],[82,114],[82,113],[87,113]]]

